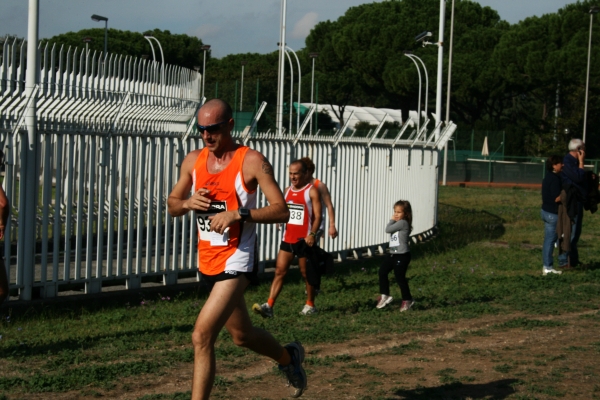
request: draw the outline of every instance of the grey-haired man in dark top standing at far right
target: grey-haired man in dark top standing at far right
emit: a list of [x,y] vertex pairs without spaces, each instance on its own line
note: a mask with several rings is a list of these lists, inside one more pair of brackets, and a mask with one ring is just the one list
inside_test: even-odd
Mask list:
[[562,169],[563,188],[571,186],[577,188],[577,215],[573,218],[571,227],[571,250],[568,252],[569,263],[561,267],[576,267],[579,264],[579,252],[577,242],[581,236],[581,224],[583,222],[583,199],[587,196],[587,183],[585,179],[585,143],[581,139],[571,139],[569,152],[563,159]]

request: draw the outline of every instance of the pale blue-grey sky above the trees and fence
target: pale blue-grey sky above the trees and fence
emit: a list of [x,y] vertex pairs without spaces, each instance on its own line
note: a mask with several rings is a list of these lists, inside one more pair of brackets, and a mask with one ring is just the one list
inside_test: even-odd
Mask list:
[[[448,0],[450,1],[450,0]],[[465,1],[465,0],[463,0]],[[576,0],[473,0],[489,6],[511,24],[534,15],[554,13]],[[364,0],[287,0],[286,43],[304,47],[311,28],[337,20]],[[39,37],[104,28],[92,14],[107,17],[108,27],[144,32],[158,28],[197,36],[210,44],[213,57],[238,53],[269,53],[277,49],[281,0],[42,0]],[[0,36],[27,37],[28,1],[0,1]],[[432,27],[431,30],[437,29]],[[109,37],[110,51],[110,37]]]

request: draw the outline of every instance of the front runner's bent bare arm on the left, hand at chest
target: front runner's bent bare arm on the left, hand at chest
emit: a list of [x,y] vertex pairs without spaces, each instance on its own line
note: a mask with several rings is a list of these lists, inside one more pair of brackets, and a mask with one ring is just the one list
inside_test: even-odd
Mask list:
[[185,215],[190,210],[207,210],[210,206],[210,199],[203,196],[208,193],[206,189],[200,189],[192,196],[189,195],[192,190],[192,173],[198,154],[200,154],[200,150],[194,150],[183,159],[179,180],[167,199],[169,214],[173,217]]

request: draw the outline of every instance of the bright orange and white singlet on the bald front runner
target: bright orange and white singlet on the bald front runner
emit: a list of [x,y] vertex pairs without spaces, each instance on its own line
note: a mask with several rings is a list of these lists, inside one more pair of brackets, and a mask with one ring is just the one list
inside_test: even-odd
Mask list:
[[249,148],[240,146],[224,170],[211,174],[206,163],[209,151],[203,149],[194,165],[193,190],[210,190],[210,208],[196,211],[198,225],[198,268],[205,275],[226,271],[251,272],[254,263],[256,224],[238,222],[220,235],[210,232],[209,216],[239,208],[256,208],[257,191],[250,192],[244,184],[242,165]]

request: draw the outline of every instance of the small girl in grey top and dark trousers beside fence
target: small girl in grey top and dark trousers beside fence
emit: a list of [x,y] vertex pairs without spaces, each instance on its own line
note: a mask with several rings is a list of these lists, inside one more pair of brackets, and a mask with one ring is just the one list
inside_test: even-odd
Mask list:
[[385,227],[385,232],[390,234],[390,254],[385,255],[383,264],[379,268],[379,292],[381,296],[377,308],[384,308],[390,304],[390,281],[388,275],[394,270],[396,282],[402,292],[402,305],[400,311],[408,311],[415,303],[410,294],[406,270],[410,264],[410,245],[408,236],[412,231],[412,208],[410,202],[399,200],[394,204],[394,214]]

